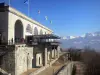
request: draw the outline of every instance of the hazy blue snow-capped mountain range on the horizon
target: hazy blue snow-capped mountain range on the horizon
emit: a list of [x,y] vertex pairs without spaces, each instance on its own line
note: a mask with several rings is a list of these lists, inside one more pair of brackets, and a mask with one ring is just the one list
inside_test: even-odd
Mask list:
[[84,48],[85,46],[90,46],[91,48],[100,49],[100,31],[86,33],[82,36],[66,36],[64,38],[61,39],[63,48]]

